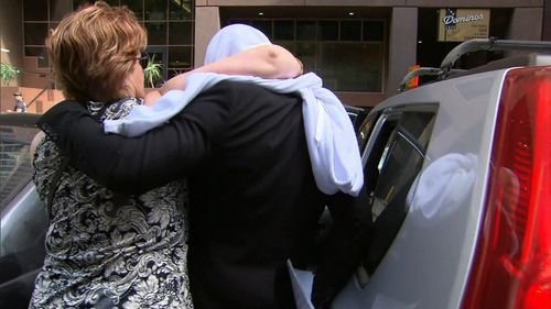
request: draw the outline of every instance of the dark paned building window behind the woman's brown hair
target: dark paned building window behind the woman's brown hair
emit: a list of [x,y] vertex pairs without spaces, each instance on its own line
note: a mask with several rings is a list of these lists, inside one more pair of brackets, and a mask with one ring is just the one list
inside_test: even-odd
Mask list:
[[[193,0],[105,0],[126,5],[148,32],[150,57],[162,65],[163,79],[193,68]],[[37,68],[48,68],[45,40],[66,14],[89,5],[93,0],[24,0],[23,35],[25,57],[35,57]],[[32,68],[30,69],[32,70]]]

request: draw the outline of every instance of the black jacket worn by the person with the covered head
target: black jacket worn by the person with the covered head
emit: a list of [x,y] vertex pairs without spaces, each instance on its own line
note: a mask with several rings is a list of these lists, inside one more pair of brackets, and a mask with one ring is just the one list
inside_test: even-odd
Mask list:
[[[288,258],[317,265],[312,299],[327,308],[368,245],[364,192],[326,196],[315,185],[298,96],[222,81],[134,139],[105,135],[69,101],[39,124],[74,166],[114,190],[139,194],[188,178],[195,308],[293,308]],[[334,224],[317,251],[325,206]]]

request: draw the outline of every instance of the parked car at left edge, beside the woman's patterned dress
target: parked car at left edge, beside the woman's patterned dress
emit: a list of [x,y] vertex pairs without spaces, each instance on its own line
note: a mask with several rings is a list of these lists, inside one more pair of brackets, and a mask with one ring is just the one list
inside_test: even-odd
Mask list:
[[37,115],[0,114],[0,308],[26,308],[44,262],[47,219],[31,179]]

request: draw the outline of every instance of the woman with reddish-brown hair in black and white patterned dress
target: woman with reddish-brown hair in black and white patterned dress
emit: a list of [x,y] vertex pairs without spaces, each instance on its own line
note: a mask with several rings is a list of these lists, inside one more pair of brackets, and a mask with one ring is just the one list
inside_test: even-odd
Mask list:
[[[65,97],[101,122],[123,118],[142,103],[139,60],[145,43],[132,12],[105,2],[64,18],[46,41]],[[240,71],[240,60],[259,65]],[[288,52],[260,46],[197,70],[278,78],[300,69]],[[176,77],[164,90],[184,79]],[[182,181],[141,196],[110,191],[68,165],[52,142],[55,134],[44,130],[34,183],[48,208],[50,227],[30,308],[193,308]]]

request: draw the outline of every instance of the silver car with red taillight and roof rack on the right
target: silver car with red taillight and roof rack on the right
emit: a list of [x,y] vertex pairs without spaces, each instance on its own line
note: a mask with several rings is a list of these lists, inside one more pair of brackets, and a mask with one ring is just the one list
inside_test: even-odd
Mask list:
[[375,238],[333,308],[551,308],[551,55],[452,69],[465,51],[549,46],[463,43],[367,115]]

